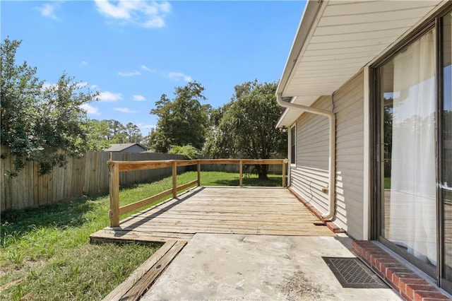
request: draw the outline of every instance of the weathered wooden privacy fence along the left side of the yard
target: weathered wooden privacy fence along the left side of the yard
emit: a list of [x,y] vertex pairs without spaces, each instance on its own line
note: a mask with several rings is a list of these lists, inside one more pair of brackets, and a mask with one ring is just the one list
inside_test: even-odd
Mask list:
[[[13,168],[14,156],[6,146],[1,146],[6,158],[0,160],[0,210],[37,207],[47,203],[57,203],[78,196],[105,193],[109,189],[108,160],[110,153],[88,151],[81,158],[68,158],[66,167],[54,167],[48,175],[38,174],[38,165],[25,164],[18,177],[8,177],[6,172]],[[112,160],[171,160],[183,159],[183,155],[163,153],[112,153]],[[179,172],[184,167],[179,167]],[[159,170],[138,170],[124,172],[121,184],[153,182],[171,175],[171,168]]]

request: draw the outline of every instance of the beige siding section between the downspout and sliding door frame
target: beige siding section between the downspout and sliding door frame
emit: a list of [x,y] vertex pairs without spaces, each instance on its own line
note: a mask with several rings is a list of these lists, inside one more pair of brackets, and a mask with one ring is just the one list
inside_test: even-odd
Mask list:
[[363,237],[364,73],[334,95],[336,115],[335,224],[357,240]]

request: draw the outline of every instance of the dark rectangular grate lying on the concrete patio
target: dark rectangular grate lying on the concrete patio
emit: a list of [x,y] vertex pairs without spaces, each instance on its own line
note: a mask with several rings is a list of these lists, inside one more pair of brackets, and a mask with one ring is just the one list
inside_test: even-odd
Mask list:
[[388,288],[356,257],[322,257],[343,288]]

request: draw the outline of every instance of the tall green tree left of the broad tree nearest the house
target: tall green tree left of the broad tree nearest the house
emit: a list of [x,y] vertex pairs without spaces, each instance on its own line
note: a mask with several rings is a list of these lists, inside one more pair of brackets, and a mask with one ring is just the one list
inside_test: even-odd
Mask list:
[[167,153],[171,146],[186,145],[202,148],[208,122],[208,106],[201,105],[201,101],[206,100],[203,91],[201,83],[194,81],[175,88],[173,100],[162,94],[155,102],[155,109],[150,111],[159,117],[150,135],[155,151]]

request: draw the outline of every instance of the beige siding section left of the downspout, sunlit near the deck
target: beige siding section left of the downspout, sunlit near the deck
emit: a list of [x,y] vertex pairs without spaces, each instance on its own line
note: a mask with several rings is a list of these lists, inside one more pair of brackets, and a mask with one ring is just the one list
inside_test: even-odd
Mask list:
[[[313,107],[331,110],[331,98],[321,97]],[[291,187],[321,213],[328,211],[328,118],[302,114],[297,119],[297,155],[291,167]]]

